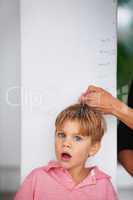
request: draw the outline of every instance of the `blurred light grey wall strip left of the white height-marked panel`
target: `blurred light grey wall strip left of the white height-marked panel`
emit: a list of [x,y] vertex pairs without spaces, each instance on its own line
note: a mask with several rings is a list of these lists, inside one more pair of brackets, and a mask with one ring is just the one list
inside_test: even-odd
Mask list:
[[[20,85],[19,1],[0,0],[0,190],[15,190],[20,167],[20,107],[6,95]],[[11,91],[9,101],[17,102]]]

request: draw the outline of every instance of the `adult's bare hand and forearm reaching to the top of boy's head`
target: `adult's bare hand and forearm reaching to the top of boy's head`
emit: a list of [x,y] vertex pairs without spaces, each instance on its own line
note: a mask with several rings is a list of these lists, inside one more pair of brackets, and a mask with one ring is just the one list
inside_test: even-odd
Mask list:
[[81,95],[80,102],[86,103],[104,114],[116,116],[129,128],[133,129],[133,109],[103,88],[89,86],[86,92]]

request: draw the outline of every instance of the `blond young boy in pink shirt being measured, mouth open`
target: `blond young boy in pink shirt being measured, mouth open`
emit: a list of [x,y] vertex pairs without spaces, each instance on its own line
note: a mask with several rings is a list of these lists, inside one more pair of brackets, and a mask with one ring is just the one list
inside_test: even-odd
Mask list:
[[33,170],[15,200],[116,200],[110,177],[98,167],[85,167],[95,155],[105,131],[100,113],[74,104],[55,121],[57,161]]

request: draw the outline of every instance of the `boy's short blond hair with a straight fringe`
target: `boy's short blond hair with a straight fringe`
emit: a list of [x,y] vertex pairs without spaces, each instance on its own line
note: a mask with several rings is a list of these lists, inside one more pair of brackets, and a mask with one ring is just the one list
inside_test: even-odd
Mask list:
[[79,122],[79,134],[90,136],[92,142],[100,142],[106,130],[105,120],[99,112],[87,104],[74,104],[58,114],[55,127],[62,127],[67,120]]

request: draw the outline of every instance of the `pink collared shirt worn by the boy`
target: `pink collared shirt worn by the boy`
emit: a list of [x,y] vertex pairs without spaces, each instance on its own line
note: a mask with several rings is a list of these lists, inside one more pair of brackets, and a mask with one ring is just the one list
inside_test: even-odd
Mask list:
[[25,179],[14,200],[117,200],[110,177],[91,168],[89,175],[75,184],[58,162],[34,169]]

